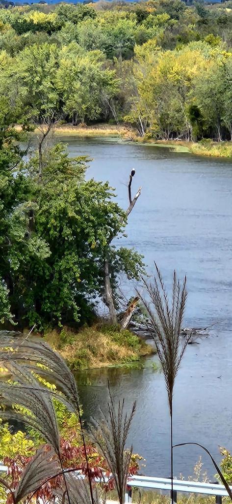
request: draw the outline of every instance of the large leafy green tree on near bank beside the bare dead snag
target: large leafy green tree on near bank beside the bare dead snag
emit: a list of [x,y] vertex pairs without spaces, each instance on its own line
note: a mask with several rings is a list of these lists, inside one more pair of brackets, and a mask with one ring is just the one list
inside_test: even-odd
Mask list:
[[104,295],[106,256],[115,296],[117,273],[138,278],[142,271],[133,250],[109,245],[126,216],[111,201],[107,183],[84,180],[85,169],[84,158],[69,158],[60,145],[46,155],[42,183],[38,157],[26,166],[30,198],[15,210],[12,226],[18,235],[0,268],[4,278],[7,264],[10,306],[23,325],[90,320],[94,298]]

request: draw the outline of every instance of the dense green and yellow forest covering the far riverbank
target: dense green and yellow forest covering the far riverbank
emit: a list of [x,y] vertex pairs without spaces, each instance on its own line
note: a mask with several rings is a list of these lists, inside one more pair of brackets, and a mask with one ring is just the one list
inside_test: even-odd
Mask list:
[[21,123],[127,121],[157,139],[231,140],[231,7],[1,9],[1,94]]

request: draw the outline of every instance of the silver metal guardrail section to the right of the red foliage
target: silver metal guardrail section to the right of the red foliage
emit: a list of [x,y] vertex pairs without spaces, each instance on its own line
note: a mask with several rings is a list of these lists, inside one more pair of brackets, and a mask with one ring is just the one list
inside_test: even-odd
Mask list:
[[[152,476],[132,476],[128,479],[129,487],[145,488],[147,490],[171,491],[171,480],[168,478],[153,478]],[[232,486],[230,487],[232,490]],[[228,493],[223,485],[217,483],[202,483],[199,481],[173,480],[173,500],[177,502],[177,492],[215,495],[216,504],[221,504],[222,497]],[[127,502],[132,502],[130,489],[127,492]]]

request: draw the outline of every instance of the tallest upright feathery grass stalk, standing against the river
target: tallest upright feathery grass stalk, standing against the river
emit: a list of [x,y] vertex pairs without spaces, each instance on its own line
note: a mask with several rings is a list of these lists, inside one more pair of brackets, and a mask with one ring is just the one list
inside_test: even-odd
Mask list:
[[186,277],[181,284],[174,271],[172,296],[169,299],[156,263],[155,269],[156,273],[152,281],[143,280],[148,298],[141,294],[140,297],[148,313],[149,330],[156,345],[168,393],[171,437],[171,499],[173,503],[173,390],[179,365],[191,335],[184,340],[180,336],[187,299]]

